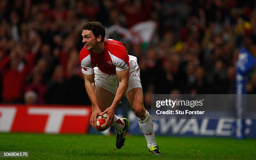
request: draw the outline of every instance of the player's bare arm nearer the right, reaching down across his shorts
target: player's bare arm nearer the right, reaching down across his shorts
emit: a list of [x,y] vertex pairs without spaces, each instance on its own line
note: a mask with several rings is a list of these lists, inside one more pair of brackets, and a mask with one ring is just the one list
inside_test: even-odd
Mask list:
[[126,70],[118,71],[116,70],[116,75],[119,80],[119,86],[116,90],[115,98],[103,114],[108,113],[108,118],[107,118],[107,125],[110,126],[113,123],[114,120],[114,115],[115,115],[115,110],[118,106],[118,103],[122,100],[123,96],[125,95],[125,92],[128,88],[128,82],[129,82],[129,68]]

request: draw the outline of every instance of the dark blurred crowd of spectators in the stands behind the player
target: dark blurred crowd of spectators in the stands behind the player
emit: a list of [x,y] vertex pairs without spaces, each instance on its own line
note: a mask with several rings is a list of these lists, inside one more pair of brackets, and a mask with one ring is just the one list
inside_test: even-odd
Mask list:
[[[151,94],[233,94],[240,47],[256,56],[255,0],[0,0],[0,102],[89,105],[82,25],[138,58]],[[247,93],[256,94],[256,70]]]

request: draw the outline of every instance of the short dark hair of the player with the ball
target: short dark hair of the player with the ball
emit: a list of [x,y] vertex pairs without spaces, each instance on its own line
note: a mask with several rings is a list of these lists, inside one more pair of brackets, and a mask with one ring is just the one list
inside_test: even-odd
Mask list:
[[105,39],[105,28],[100,22],[92,21],[85,23],[83,26],[83,30],[91,30],[95,37],[101,35],[101,41],[103,42]]

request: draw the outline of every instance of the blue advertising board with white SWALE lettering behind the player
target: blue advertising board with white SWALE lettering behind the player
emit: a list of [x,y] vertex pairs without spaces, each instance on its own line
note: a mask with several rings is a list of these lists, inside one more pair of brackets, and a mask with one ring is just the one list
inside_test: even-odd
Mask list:
[[[118,111],[120,112],[120,111]],[[122,115],[118,115],[122,117]],[[128,112],[128,118],[131,125],[128,127],[128,133],[131,135],[142,135],[138,125],[137,117],[132,111]],[[235,119],[160,119],[152,120],[156,135],[173,135],[173,136],[205,136],[205,137],[232,137],[234,134]],[[256,138],[256,120],[245,120],[245,136]],[[110,130],[97,132],[90,127],[89,133],[109,134]]]

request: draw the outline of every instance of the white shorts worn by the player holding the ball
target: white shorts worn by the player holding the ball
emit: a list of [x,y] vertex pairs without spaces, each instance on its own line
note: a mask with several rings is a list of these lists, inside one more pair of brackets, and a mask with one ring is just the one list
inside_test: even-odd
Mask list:
[[[126,93],[133,88],[142,88],[141,87],[141,78],[140,78],[140,68],[137,63],[137,57],[129,55],[129,84]],[[110,75],[107,73],[103,73],[99,70],[98,67],[94,67],[95,74],[95,85],[98,87],[102,87],[112,93],[115,94],[116,89],[119,85],[119,80],[116,75]],[[125,93],[125,94],[126,94]]]

